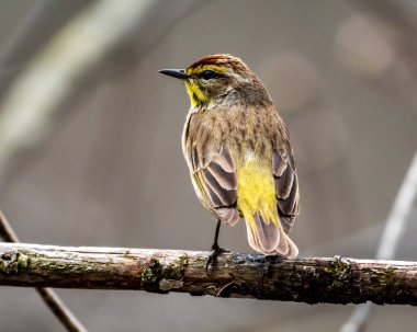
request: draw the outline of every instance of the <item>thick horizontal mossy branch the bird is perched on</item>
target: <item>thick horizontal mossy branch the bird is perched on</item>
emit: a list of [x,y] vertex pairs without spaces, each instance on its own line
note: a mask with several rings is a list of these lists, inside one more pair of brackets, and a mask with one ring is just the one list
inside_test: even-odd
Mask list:
[[205,272],[208,253],[0,243],[0,285],[137,289],[307,304],[417,306],[417,263],[328,257],[272,260],[225,253]]

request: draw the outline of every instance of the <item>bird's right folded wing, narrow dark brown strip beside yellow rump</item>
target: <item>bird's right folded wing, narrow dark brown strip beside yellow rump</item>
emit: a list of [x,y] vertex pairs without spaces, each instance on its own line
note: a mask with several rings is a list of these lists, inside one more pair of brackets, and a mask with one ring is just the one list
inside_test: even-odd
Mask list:
[[272,172],[275,182],[278,210],[285,232],[291,231],[298,215],[298,180],[290,145],[275,145],[272,152]]

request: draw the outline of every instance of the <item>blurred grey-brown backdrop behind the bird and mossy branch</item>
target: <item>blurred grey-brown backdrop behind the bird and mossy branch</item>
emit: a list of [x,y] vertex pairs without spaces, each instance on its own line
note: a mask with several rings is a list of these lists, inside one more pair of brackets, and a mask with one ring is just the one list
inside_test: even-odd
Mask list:
[[[208,250],[181,152],[183,85],[207,54],[263,80],[295,151],[301,255],[372,259],[417,147],[417,5],[380,1],[0,1],[0,203],[22,242]],[[416,261],[417,214],[396,259]],[[221,244],[247,252],[243,222]],[[90,331],[338,331],[354,306],[58,289]],[[367,331],[412,331],[375,307]],[[0,287],[1,331],[64,331]]]

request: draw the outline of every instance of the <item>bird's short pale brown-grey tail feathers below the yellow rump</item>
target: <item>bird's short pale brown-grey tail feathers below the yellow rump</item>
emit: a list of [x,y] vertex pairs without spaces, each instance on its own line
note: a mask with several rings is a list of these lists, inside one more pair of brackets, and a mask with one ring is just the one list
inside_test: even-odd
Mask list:
[[297,256],[298,249],[285,233],[279,218],[272,220],[262,217],[260,213],[255,213],[249,217],[246,216],[245,221],[248,241],[253,250],[266,255],[280,255],[285,259]]

